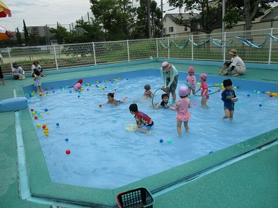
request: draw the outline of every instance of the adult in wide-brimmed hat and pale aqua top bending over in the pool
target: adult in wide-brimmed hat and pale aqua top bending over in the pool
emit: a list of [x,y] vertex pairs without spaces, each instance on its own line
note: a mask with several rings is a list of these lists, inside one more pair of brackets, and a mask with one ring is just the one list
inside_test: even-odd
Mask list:
[[178,85],[179,72],[173,64],[163,62],[161,65],[161,78],[162,87],[161,89],[170,96],[172,94],[173,103],[176,102],[176,88]]

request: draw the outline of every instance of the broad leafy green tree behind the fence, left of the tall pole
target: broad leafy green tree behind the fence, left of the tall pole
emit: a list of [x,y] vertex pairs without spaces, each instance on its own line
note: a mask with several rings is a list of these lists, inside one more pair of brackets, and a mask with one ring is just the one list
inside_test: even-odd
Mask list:
[[130,0],[90,0],[96,21],[104,28],[106,40],[131,39],[136,8]]

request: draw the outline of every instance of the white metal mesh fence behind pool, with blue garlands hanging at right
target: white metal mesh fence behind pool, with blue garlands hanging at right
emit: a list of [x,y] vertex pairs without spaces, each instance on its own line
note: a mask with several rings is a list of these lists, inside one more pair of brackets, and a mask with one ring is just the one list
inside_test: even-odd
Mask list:
[[11,73],[13,62],[19,62],[28,72],[33,60],[39,60],[44,70],[150,58],[229,61],[230,49],[236,49],[245,62],[278,64],[277,37],[278,28],[270,28],[147,40],[14,47],[0,49],[1,67],[3,73]]

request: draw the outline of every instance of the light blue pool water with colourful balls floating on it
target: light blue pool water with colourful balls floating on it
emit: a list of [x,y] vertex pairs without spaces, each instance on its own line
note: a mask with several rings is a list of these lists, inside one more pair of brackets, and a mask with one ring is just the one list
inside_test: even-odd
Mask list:
[[[184,80],[179,78],[177,92]],[[200,105],[199,96],[191,95],[190,130],[182,128],[179,138],[177,112],[156,110],[152,99],[142,95],[144,85],[149,84],[156,92],[154,103],[161,102],[163,92],[156,91],[161,87],[159,76],[107,76],[107,80],[85,84],[81,92],[72,89],[69,82],[28,98],[29,108],[35,112],[33,118],[38,116],[33,124],[53,182],[115,189],[277,128],[272,120],[278,116],[277,98],[241,86],[235,89],[239,100],[233,121],[222,120],[222,90],[218,92],[218,87],[209,88],[214,94],[208,99],[208,109]],[[208,80],[208,85],[215,83]],[[117,100],[126,96],[126,103],[106,105],[108,92],[115,92]],[[137,103],[138,110],[153,119],[151,134],[125,130],[135,123],[129,112],[131,103]],[[49,136],[44,134],[43,123]]]

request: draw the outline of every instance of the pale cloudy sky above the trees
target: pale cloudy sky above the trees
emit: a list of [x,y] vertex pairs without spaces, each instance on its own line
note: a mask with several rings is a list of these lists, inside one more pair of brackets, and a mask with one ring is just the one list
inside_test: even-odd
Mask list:
[[[26,26],[62,26],[75,23],[85,17],[90,10],[90,0],[1,0],[10,8],[12,17],[0,18],[0,25],[9,31],[23,31],[23,19]],[[156,0],[160,8],[161,0]],[[164,4],[166,3],[166,4]],[[171,7],[163,0],[163,10]],[[171,13],[179,10],[171,10]],[[167,12],[166,12],[167,13]],[[88,18],[88,17],[87,17]],[[67,27],[66,27],[67,28]]]

